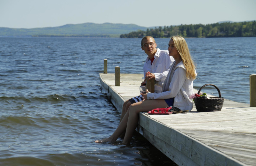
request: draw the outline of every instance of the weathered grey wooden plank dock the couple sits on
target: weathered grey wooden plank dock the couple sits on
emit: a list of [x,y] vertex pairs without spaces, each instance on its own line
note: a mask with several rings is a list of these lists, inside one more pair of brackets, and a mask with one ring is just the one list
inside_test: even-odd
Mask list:
[[[141,77],[121,73],[117,87],[114,73],[100,73],[102,92],[122,111],[124,101],[140,94]],[[256,165],[256,107],[249,106],[225,99],[217,112],[197,112],[195,105],[182,114],[141,112],[139,132],[178,165]]]

